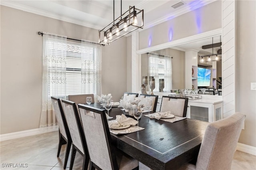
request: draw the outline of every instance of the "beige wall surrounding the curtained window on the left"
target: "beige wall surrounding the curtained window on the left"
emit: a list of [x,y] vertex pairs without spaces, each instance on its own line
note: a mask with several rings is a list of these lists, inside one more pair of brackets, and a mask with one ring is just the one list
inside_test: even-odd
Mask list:
[[[39,128],[42,103],[40,32],[97,42],[98,30],[1,6],[1,131]],[[102,47],[102,93],[126,91],[126,38]]]

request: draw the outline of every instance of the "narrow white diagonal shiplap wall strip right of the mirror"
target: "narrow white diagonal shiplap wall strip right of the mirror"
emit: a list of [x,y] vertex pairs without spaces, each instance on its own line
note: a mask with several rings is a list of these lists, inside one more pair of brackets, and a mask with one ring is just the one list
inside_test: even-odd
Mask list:
[[232,115],[236,108],[236,1],[222,1],[222,96],[223,115]]

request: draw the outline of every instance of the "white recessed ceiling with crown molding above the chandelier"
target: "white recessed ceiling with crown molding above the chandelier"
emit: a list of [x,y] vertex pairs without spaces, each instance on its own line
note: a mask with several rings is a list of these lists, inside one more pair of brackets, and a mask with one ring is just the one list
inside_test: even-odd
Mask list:
[[[144,29],[215,0],[122,0],[122,14],[135,6],[144,10]],[[121,0],[1,0],[1,5],[101,30],[121,15]],[[115,13],[114,13],[115,4]]]

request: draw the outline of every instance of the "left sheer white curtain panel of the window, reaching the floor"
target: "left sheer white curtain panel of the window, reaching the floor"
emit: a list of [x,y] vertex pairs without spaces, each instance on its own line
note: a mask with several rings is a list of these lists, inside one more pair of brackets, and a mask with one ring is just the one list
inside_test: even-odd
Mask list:
[[44,32],[40,127],[57,125],[51,96],[66,97],[66,42],[65,36]]

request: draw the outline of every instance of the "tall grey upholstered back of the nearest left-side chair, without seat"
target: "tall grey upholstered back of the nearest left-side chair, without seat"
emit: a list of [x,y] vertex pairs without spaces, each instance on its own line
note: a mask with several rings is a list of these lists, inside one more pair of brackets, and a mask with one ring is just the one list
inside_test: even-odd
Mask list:
[[118,169],[104,110],[80,104],[78,109],[90,160],[102,170]]

